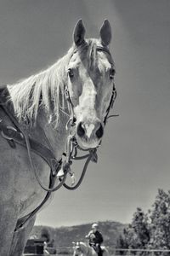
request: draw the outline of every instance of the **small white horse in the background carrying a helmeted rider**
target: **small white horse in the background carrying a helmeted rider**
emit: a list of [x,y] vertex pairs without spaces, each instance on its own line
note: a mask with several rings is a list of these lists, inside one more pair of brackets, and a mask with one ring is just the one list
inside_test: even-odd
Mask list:
[[[103,256],[109,256],[109,252],[106,247],[101,246]],[[73,242],[73,256],[98,256],[98,253],[93,247],[90,247],[87,243],[82,241]]]

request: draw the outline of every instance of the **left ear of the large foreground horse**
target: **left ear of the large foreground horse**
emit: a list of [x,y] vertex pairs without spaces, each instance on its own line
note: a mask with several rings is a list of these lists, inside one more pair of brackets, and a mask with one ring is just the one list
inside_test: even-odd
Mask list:
[[75,26],[74,32],[73,32],[74,43],[77,46],[80,46],[84,42],[85,32],[86,30],[82,23],[82,20],[78,20],[77,25]]

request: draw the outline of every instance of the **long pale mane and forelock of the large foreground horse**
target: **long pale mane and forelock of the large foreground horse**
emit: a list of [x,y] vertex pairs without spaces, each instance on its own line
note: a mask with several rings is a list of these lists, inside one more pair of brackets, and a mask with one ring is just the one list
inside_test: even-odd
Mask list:
[[[96,65],[96,39],[88,39],[88,44],[82,46],[80,55],[86,51],[89,66]],[[87,52],[88,49],[88,52]],[[48,121],[54,121],[55,126],[59,122],[59,108],[65,108],[65,79],[66,67],[73,52],[77,51],[72,46],[67,54],[59,59],[48,69],[31,75],[16,84],[8,85],[10,99],[14,104],[14,112],[20,121],[32,124],[36,118],[38,109],[41,107],[48,113]],[[87,55],[88,54],[88,55]]]

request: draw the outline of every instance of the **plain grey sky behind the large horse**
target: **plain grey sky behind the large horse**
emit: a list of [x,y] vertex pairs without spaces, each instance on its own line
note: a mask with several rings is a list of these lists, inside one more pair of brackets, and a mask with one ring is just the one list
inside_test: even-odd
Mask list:
[[99,162],[80,189],[56,192],[36,224],[127,223],[136,207],[150,208],[158,188],[170,189],[170,1],[1,0],[0,83],[58,60],[79,18],[88,37],[111,22],[120,117],[107,125]]

